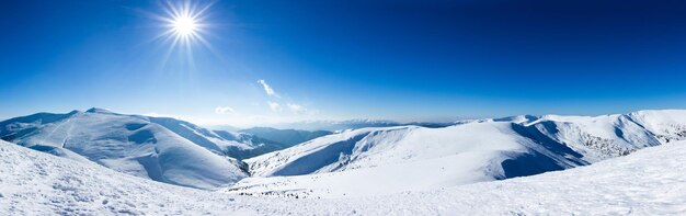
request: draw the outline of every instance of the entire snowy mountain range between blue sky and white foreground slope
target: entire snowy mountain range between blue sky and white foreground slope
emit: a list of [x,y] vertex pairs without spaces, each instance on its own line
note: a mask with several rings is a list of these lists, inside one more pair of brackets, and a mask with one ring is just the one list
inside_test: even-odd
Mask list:
[[[247,133],[91,109],[3,121],[0,137],[178,185],[231,185],[231,193],[251,194],[368,195],[531,175],[625,156],[684,139],[686,111],[367,127],[287,148]],[[274,150],[279,151],[250,158]],[[248,173],[253,177],[243,179]]]

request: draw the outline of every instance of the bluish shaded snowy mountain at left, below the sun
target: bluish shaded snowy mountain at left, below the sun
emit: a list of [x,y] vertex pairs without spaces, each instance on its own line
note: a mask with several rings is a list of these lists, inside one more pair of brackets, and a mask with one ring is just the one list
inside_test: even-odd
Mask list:
[[245,166],[221,155],[225,140],[192,124],[103,109],[38,113],[0,122],[0,137],[53,155],[87,158],[113,170],[160,182],[216,189],[245,178]]

